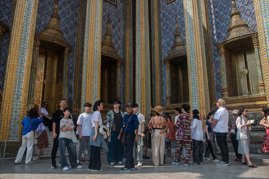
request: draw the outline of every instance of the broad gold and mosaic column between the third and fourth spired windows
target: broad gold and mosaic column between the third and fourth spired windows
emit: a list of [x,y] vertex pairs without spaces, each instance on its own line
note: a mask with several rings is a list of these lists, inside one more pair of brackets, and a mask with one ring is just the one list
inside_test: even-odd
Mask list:
[[206,18],[204,1],[184,0],[186,24],[186,49],[189,71],[190,106],[200,114],[209,111],[209,90],[206,64],[206,44],[203,31],[203,18]]

